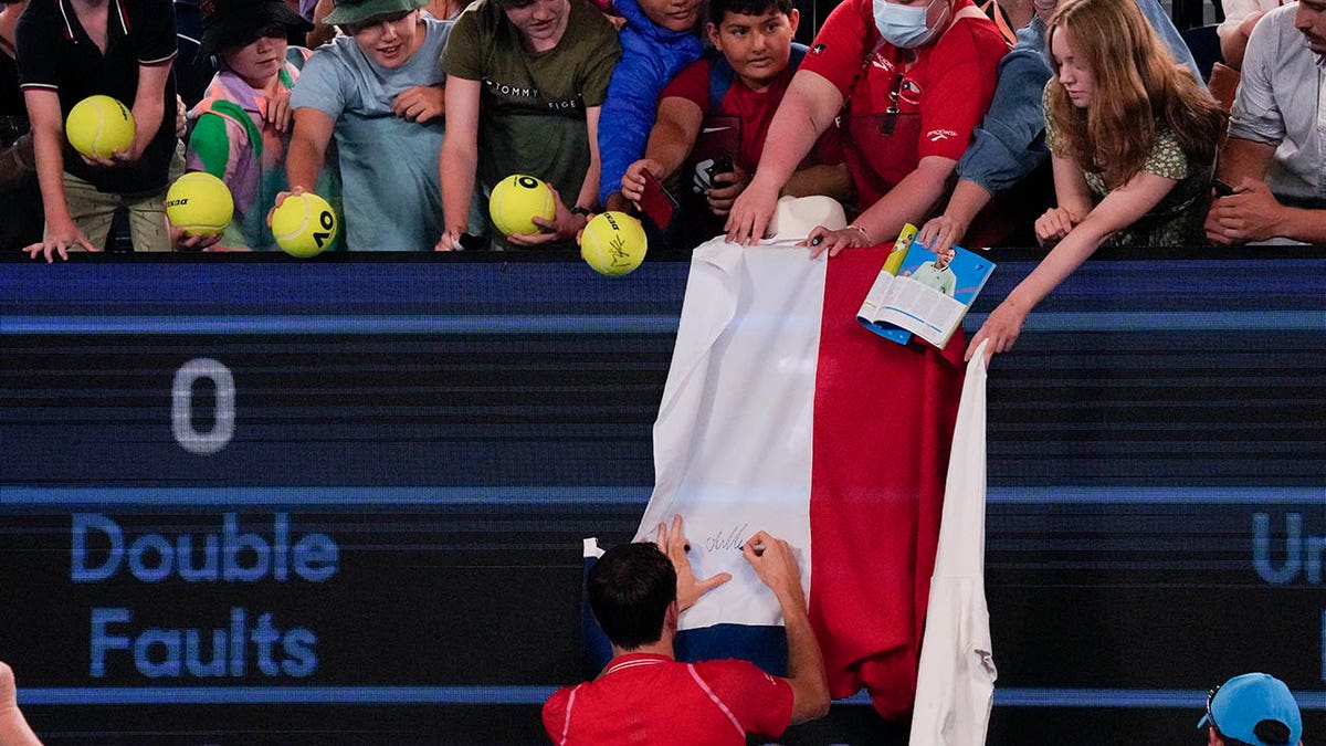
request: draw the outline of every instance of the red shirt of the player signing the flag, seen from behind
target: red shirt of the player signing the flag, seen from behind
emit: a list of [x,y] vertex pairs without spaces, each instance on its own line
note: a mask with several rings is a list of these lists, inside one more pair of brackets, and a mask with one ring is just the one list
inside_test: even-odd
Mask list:
[[619,656],[544,704],[548,735],[565,745],[741,745],[747,733],[781,735],[790,718],[792,685],[751,662],[650,653]]

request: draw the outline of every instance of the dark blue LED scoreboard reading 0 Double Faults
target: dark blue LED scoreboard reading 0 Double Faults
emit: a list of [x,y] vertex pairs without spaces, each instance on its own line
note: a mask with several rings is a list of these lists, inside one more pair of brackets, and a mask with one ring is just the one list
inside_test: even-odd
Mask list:
[[[968,333],[1036,256],[993,256]],[[991,743],[1183,738],[1244,670],[1326,733],[1321,258],[1107,254],[994,360]],[[34,726],[537,741],[581,539],[648,499],[686,259],[0,261],[0,660]],[[806,742],[855,742],[835,717]]]

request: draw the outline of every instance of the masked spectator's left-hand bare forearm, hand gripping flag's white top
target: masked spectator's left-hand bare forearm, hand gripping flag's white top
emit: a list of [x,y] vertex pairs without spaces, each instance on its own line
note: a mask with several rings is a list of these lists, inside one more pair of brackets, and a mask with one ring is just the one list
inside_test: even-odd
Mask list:
[[760,166],[745,191],[732,204],[725,230],[728,240],[757,243],[769,227],[778,191],[788,183],[815,141],[842,109],[842,94],[819,73],[798,70],[769,123]]

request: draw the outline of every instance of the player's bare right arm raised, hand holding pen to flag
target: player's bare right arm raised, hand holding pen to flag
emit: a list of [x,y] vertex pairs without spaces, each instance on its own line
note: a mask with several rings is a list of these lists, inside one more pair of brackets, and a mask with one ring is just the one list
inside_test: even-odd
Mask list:
[[[762,551],[757,554],[756,546],[764,547]],[[829,713],[829,677],[806,613],[797,558],[786,542],[764,531],[747,539],[741,556],[773,591],[782,611],[782,624],[788,632],[788,684],[792,685],[790,725],[822,718]]]

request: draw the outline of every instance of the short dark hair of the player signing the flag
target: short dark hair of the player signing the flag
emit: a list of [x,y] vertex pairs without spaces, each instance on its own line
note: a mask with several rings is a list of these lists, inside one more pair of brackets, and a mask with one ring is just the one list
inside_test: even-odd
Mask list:
[[651,543],[619,544],[589,571],[589,607],[603,633],[627,650],[663,636],[663,617],[676,600],[676,571]]

